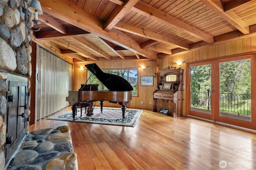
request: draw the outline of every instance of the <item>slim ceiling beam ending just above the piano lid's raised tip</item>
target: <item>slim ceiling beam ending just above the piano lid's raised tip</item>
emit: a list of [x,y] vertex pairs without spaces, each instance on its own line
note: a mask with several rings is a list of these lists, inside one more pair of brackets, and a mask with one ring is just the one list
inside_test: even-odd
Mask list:
[[79,49],[78,47],[76,47],[75,45],[72,45],[70,43],[67,43],[66,41],[63,41],[61,39],[52,39],[51,41],[53,41],[54,43],[57,43],[57,44],[60,44],[62,45],[63,47],[67,48],[67,49],[71,49],[73,51],[76,51],[79,55],[82,55],[83,57],[86,57],[86,58],[91,58],[95,61],[98,60],[98,58],[90,53],[87,53],[86,51],[82,50],[82,49]]

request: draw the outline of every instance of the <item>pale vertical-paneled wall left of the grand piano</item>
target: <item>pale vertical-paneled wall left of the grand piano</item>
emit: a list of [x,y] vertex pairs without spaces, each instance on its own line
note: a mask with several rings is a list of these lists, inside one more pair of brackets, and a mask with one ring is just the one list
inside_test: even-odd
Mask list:
[[66,106],[68,90],[71,90],[72,64],[48,51],[37,48],[36,120]]

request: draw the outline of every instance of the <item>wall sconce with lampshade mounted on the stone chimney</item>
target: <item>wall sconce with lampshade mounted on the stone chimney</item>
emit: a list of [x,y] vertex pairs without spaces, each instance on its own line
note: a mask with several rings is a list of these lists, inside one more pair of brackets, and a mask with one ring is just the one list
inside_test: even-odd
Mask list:
[[26,2],[24,1],[25,3],[25,8],[22,8],[22,11],[24,12],[25,14],[25,23],[26,23],[26,26],[28,27],[28,16],[29,16],[29,12],[32,12],[33,14],[35,14],[35,19],[32,20],[34,22],[34,25],[32,28],[35,28],[35,29],[31,29],[30,27],[28,27],[28,29],[32,30],[32,31],[39,31],[41,29],[40,24],[41,21],[38,20],[38,15],[42,15],[43,14],[43,11],[42,11],[42,7],[41,7],[41,4],[38,0],[31,0],[28,8],[26,6]]

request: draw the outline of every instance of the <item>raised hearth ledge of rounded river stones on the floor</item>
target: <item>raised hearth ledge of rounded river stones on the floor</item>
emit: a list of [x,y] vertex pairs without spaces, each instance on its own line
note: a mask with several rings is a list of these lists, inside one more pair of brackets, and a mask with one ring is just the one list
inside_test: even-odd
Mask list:
[[70,128],[40,129],[28,133],[8,170],[78,170]]

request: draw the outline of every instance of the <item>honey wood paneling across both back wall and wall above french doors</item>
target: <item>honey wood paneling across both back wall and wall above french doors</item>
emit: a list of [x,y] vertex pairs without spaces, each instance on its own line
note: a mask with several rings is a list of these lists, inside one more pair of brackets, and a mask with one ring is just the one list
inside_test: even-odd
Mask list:
[[[248,37],[244,39],[238,39],[236,41],[230,41],[227,43],[212,45],[202,49],[192,50],[188,53],[180,55],[170,55],[159,61],[100,61],[91,62],[96,63],[102,70],[109,68],[138,68],[138,96],[133,97],[132,101],[128,104],[128,108],[144,108],[152,109],[153,107],[153,92],[156,90],[156,84],[158,75],[154,78],[154,86],[140,86],[140,76],[154,76],[154,73],[158,73],[158,70],[162,70],[168,66],[176,66],[184,69],[184,85],[186,87],[186,63],[199,62],[204,60],[212,60],[217,57],[232,56],[238,54],[243,55],[244,53],[256,51],[256,36]],[[185,61],[181,66],[178,66],[176,61]],[[80,66],[84,67],[89,62],[74,63],[73,68],[73,79],[72,79],[72,90],[78,90],[80,84],[85,83],[87,80],[87,69],[81,70]],[[141,65],[148,65],[148,68],[143,70],[140,68]],[[186,102],[186,88],[184,88],[184,101]],[[143,104],[141,104],[143,102]],[[150,104],[151,102],[151,104]],[[185,113],[185,102],[183,102],[183,110]],[[99,106],[98,102],[96,106]],[[111,104],[105,102],[104,106],[119,107],[118,104]]]

